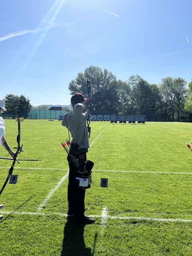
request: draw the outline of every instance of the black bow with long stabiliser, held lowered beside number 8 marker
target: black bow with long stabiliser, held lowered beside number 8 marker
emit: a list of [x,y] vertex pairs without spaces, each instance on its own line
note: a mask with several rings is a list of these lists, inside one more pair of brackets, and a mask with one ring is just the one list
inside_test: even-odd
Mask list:
[[[2,159],[10,159],[10,160],[13,160],[13,162],[12,162],[11,168],[9,169],[8,176],[7,176],[7,178],[6,178],[6,181],[5,181],[4,185],[2,186],[2,189],[0,190],[0,195],[2,194],[2,192],[3,192],[3,190],[4,190],[5,186],[6,186],[6,184],[7,184],[8,180],[9,180],[9,178],[10,178],[11,175],[12,175],[12,172],[13,172],[15,163],[16,163],[16,162],[19,163],[19,161],[18,161],[18,159],[17,159],[18,154],[20,154],[21,152],[23,152],[23,150],[22,150],[23,145],[20,146],[20,118],[19,118],[19,112],[18,112],[18,114],[17,114],[17,121],[18,121],[18,134],[17,134],[17,144],[18,144],[18,146],[16,147],[16,149],[17,149],[17,150],[16,150],[16,153],[14,154],[13,158],[5,158],[5,157],[2,158],[2,157],[1,157]],[[37,159],[19,159],[19,160],[40,161],[40,160],[37,160]]]

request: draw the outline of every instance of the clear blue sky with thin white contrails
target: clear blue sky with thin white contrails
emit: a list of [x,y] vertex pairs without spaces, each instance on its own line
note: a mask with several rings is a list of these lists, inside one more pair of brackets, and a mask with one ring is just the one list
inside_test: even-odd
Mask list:
[[1,0],[0,98],[70,104],[90,65],[150,84],[192,77],[191,0]]

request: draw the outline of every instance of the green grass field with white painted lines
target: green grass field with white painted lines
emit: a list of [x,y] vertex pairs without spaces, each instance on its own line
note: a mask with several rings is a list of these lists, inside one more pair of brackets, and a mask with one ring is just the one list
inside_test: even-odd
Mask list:
[[[5,122],[13,148],[17,123]],[[66,215],[66,138],[57,120],[21,123],[19,158],[41,162],[16,163],[18,182],[0,196],[0,256],[192,255],[192,123],[91,122],[88,159],[95,165],[85,203],[96,221],[86,226]],[[3,147],[0,155],[8,157]],[[11,164],[0,160],[0,187]]]

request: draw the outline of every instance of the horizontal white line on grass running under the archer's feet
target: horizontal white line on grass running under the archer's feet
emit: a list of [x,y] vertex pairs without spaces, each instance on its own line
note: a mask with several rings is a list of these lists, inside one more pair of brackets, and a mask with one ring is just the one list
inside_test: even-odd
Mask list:
[[[26,214],[26,215],[42,215],[42,216],[51,216],[51,215],[57,215],[61,217],[67,217],[67,214],[62,213],[42,213],[42,212],[7,212],[7,211],[0,211],[1,214]],[[89,217],[93,218],[103,218],[102,215],[90,215]],[[160,219],[160,218],[147,218],[147,217],[119,217],[119,216],[109,216],[107,215],[107,218],[111,219],[119,219],[119,220],[148,220],[148,221],[157,221],[157,222],[192,222],[192,220],[185,220],[185,219]]]

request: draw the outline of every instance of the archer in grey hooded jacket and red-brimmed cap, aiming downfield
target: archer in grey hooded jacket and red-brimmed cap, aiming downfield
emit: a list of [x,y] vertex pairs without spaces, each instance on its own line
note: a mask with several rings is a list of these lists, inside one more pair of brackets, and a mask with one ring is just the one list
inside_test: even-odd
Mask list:
[[[81,93],[76,93],[71,97],[71,105],[73,110],[64,115],[62,126],[68,128],[72,135],[71,145],[74,145],[74,156],[78,159],[78,162],[86,162],[86,153],[89,148],[89,137],[86,126],[86,118],[90,111],[86,110],[85,101],[88,100]],[[72,149],[72,146],[71,146]],[[70,153],[72,154],[72,153]],[[76,179],[80,177],[77,166],[74,164],[74,160],[68,155],[69,163],[69,181],[68,181],[68,215],[74,216],[74,222],[80,222],[84,224],[91,224],[95,220],[84,215],[85,212],[85,192],[86,189],[80,184],[80,180]]]

